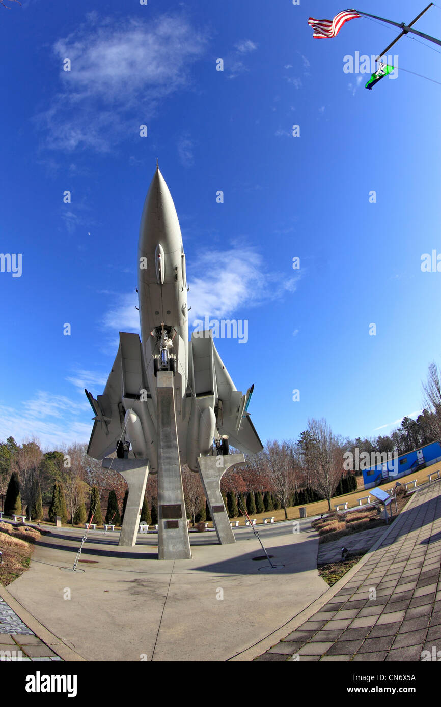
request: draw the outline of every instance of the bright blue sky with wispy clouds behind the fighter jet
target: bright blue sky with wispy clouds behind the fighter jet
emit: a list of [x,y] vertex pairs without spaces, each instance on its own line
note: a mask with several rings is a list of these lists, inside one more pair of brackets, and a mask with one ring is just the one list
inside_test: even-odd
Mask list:
[[[307,18],[332,18],[337,1],[6,4],[0,250],[22,254],[22,274],[0,272],[0,439],[88,440],[83,389],[102,392],[118,331],[139,327],[137,237],[156,157],[190,315],[248,321],[246,344],[216,344],[236,387],[256,385],[263,441],[297,438],[309,417],[355,437],[418,413],[441,360],[441,273],[420,269],[423,253],[441,253],[441,94],[401,67],[438,81],[438,51],[404,37],[390,52],[398,77],[367,91],[344,57],[378,54],[395,30],[357,19],[314,40]],[[360,9],[401,22],[423,6]],[[441,9],[418,28],[441,36]]]

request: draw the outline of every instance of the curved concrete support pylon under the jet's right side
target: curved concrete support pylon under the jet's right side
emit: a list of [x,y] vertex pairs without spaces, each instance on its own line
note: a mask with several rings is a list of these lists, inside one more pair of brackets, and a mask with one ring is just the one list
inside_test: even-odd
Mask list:
[[197,457],[196,461],[199,467],[205,497],[207,498],[210,513],[212,514],[217,539],[221,545],[234,543],[236,539],[234,532],[231,530],[228,513],[224,506],[224,499],[222,498],[220,490],[220,481],[229,467],[237,464],[245,464],[245,457],[243,454],[228,454],[224,457]]

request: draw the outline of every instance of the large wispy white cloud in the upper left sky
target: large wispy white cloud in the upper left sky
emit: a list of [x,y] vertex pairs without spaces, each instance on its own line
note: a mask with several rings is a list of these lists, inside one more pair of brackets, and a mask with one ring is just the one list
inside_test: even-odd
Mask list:
[[182,16],[156,22],[138,19],[98,21],[89,13],[84,25],[53,46],[62,93],[37,118],[47,131],[47,146],[67,151],[108,151],[155,114],[159,103],[190,86],[190,68],[205,50],[207,37]]

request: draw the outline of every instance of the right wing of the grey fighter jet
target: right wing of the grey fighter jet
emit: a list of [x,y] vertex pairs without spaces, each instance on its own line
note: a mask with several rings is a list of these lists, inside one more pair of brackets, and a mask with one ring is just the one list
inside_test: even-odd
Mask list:
[[228,435],[229,443],[236,449],[244,454],[257,454],[263,449],[263,444],[247,411],[252,388],[246,392],[246,395],[236,390],[227,368],[217,353],[214,341],[213,361],[219,406],[217,429],[220,434]]

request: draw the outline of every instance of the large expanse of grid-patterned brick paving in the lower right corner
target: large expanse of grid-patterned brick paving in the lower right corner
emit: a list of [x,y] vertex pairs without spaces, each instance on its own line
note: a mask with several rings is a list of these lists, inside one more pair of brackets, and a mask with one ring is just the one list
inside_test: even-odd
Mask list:
[[255,660],[418,661],[441,650],[440,494],[440,481],[418,491],[348,583]]

